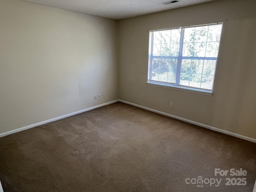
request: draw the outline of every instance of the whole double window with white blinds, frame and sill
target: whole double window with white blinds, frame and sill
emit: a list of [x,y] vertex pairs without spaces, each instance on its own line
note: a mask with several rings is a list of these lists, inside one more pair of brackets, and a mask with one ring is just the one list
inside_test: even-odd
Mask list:
[[148,82],[212,95],[222,23],[150,31]]

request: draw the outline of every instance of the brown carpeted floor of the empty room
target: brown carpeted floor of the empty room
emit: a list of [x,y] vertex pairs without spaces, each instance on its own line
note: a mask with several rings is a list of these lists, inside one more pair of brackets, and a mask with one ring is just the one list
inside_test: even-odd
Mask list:
[[0,138],[4,192],[252,192],[255,179],[255,143],[119,102]]

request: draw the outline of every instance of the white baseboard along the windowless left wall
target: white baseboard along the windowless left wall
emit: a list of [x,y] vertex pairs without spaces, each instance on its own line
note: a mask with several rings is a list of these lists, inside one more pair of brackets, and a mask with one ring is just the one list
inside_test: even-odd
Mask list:
[[[26,130],[26,129],[30,129],[30,128],[33,128],[33,127],[36,127],[36,126],[40,126],[40,125],[43,125],[43,124],[46,124],[46,123],[50,123],[50,122],[53,122],[53,121],[64,119],[64,118],[67,118],[67,117],[70,117],[70,116],[73,116],[73,115],[76,115],[76,114],[79,114],[79,113],[90,111],[90,110],[93,110],[93,109],[96,109],[96,108],[99,108],[99,107],[110,105],[110,104],[116,103],[118,101],[119,100],[110,101],[110,102],[107,102],[107,103],[104,103],[104,104],[100,104],[100,105],[89,107],[89,108],[86,108],[86,109],[83,109],[83,110],[80,110],[80,111],[76,111],[76,112],[73,112],[73,113],[70,113],[70,114],[66,114],[66,115],[63,115],[63,116],[60,116],[60,117],[52,118],[52,119],[45,120],[45,121],[42,121],[42,122],[38,122],[38,123],[35,123],[35,124],[32,124],[32,125],[28,125],[28,126],[25,126],[25,127],[21,127],[21,128],[18,128],[18,129],[8,131],[8,132],[4,132],[4,133],[0,134],[0,138],[4,137],[4,136],[7,136],[7,135],[10,135],[10,134],[14,134],[14,133]],[[0,192],[1,192],[1,190],[0,190]]]

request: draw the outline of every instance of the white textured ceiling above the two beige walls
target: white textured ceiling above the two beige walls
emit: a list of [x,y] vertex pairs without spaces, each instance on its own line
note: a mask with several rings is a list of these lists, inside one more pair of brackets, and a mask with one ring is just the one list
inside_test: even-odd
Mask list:
[[65,10],[71,10],[111,19],[124,19],[164,10],[185,7],[213,0],[179,0],[164,5],[169,0],[23,0]]

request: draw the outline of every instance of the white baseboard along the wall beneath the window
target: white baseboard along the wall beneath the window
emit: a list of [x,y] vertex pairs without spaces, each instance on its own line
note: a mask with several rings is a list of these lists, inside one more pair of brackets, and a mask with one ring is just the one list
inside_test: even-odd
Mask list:
[[141,106],[141,105],[138,105],[138,104],[134,104],[134,103],[131,103],[131,102],[128,102],[128,101],[124,101],[124,100],[121,100],[121,99],[119,99],[119,102],[129,104],[129,105],[132,105],[132,106],[136,106],[138,108],[142,108],[142,109],[152,111],[152,112],[164,115],[164,116],[168,116],[168,117],[178,119],[178,120],[181,120],[181,121],[184,121],[184,122],[188,122],[188,123],[200,126],[200,127],[204,127],[204,128],[210,129],[210,130],[214,130],[214,131],[217,131],[217,132],[220,132],[220,133],[224,133],[224,134],[227,134],[227,135],[231,135],[231,136],[234,136],[234,137],[237,137],[237,138],[240,138],[240,139],[244,139],[244,140],[256,143],[256,139],[254,139],[254,138],[250,138],[250,137],[247,137],[247,136],[243,136],[243,135],[240,135],[240,134],[229,132],[229,131],[219,129],[219,128],[216,128],[216,127],[208,126],[208,125],[205,125],[205,124],[202,124],[202,123],[198,123],[198,122],[188,120],[188,119],[185,119],[185,118],[182,118],[182,117],[178,117],[178,116],[175,116],[175,115],[172,115],[172,114],[168,114],[168,113],[165,113],[165,112],[154,110],[154,109],[144,107],[144,106]]

